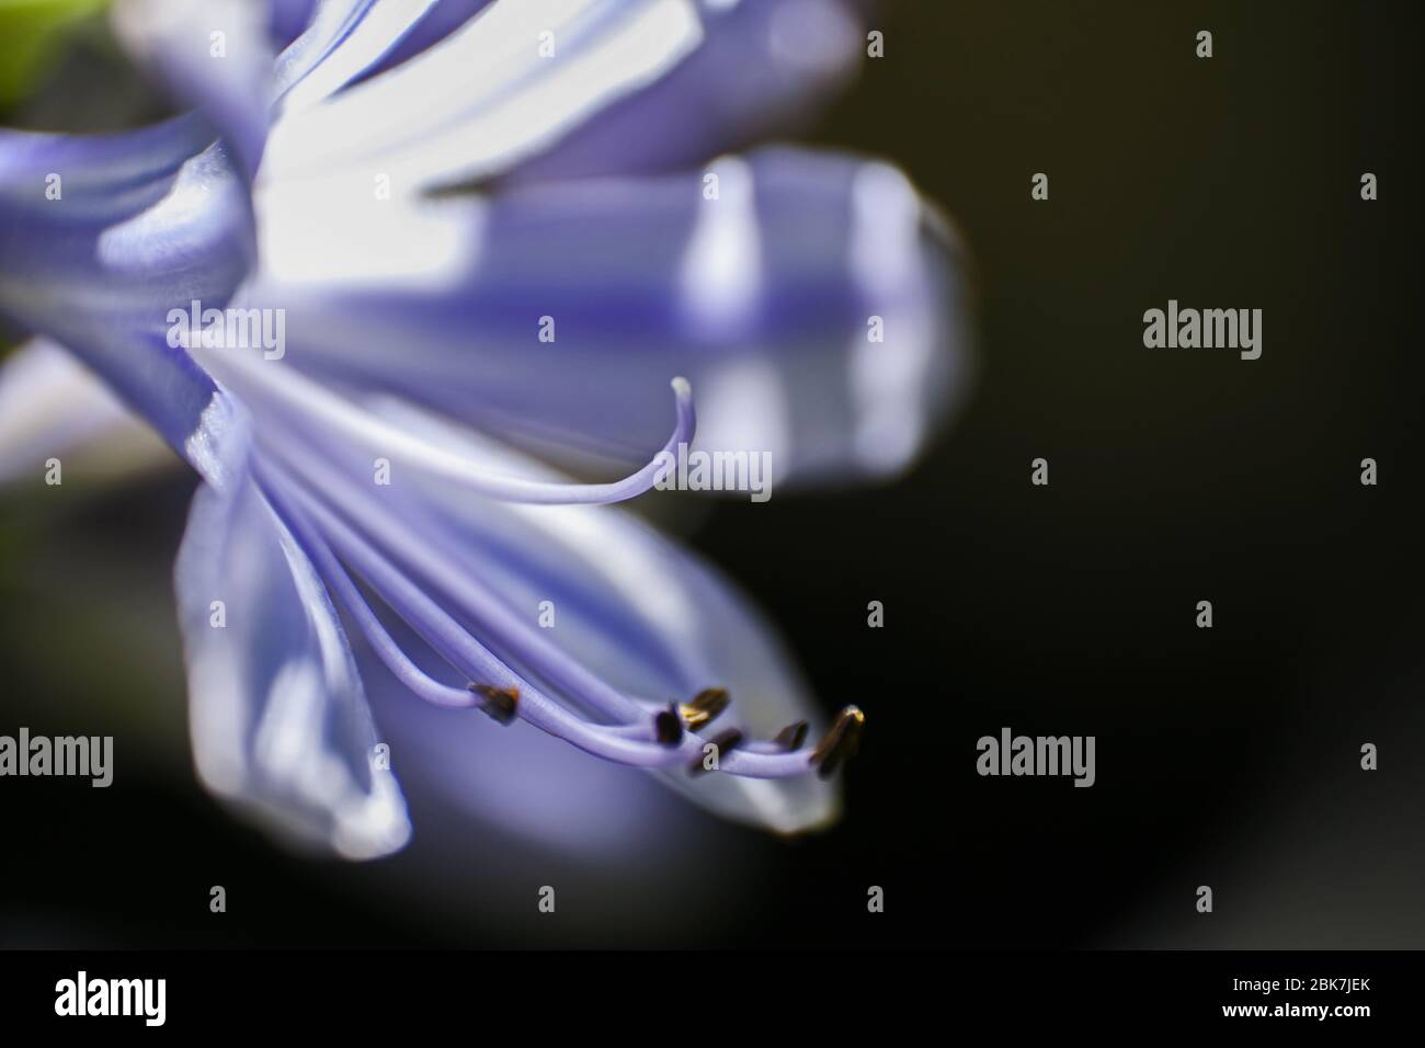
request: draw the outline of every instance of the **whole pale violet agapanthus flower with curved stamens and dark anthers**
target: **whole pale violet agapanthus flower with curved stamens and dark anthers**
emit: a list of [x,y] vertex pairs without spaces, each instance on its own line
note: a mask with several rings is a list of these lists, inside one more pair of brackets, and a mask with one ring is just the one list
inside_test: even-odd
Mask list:
[[[114,17],[194,108],[0,133],[0,311],[36,337],[0,406],[68,391],[0,473],[113,416],[71,355],[201,476],[175,580],[204,781],[338,854],[400,847],[353,632],[452,717],[778,831],[832,820],[862,714],[825,724],[744,597],[607,503],[680,448],[767,452],[778,483],[889,475],[959,389],[953,241],[899,171],[720,155],[854,68],[859,9]],[[231,345],[234,318],[282,344]]]

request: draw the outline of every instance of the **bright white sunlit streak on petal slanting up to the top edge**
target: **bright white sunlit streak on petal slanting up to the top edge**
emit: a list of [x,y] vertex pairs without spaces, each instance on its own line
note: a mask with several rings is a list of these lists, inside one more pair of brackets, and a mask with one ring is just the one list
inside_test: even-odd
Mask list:
[[[557,57],[542,58],[539,34]],[[703,41],[691,0],[500,0],[419,58],[284,114],[265,170],[379,163],[430,185],[489,175],[657,80]]]

